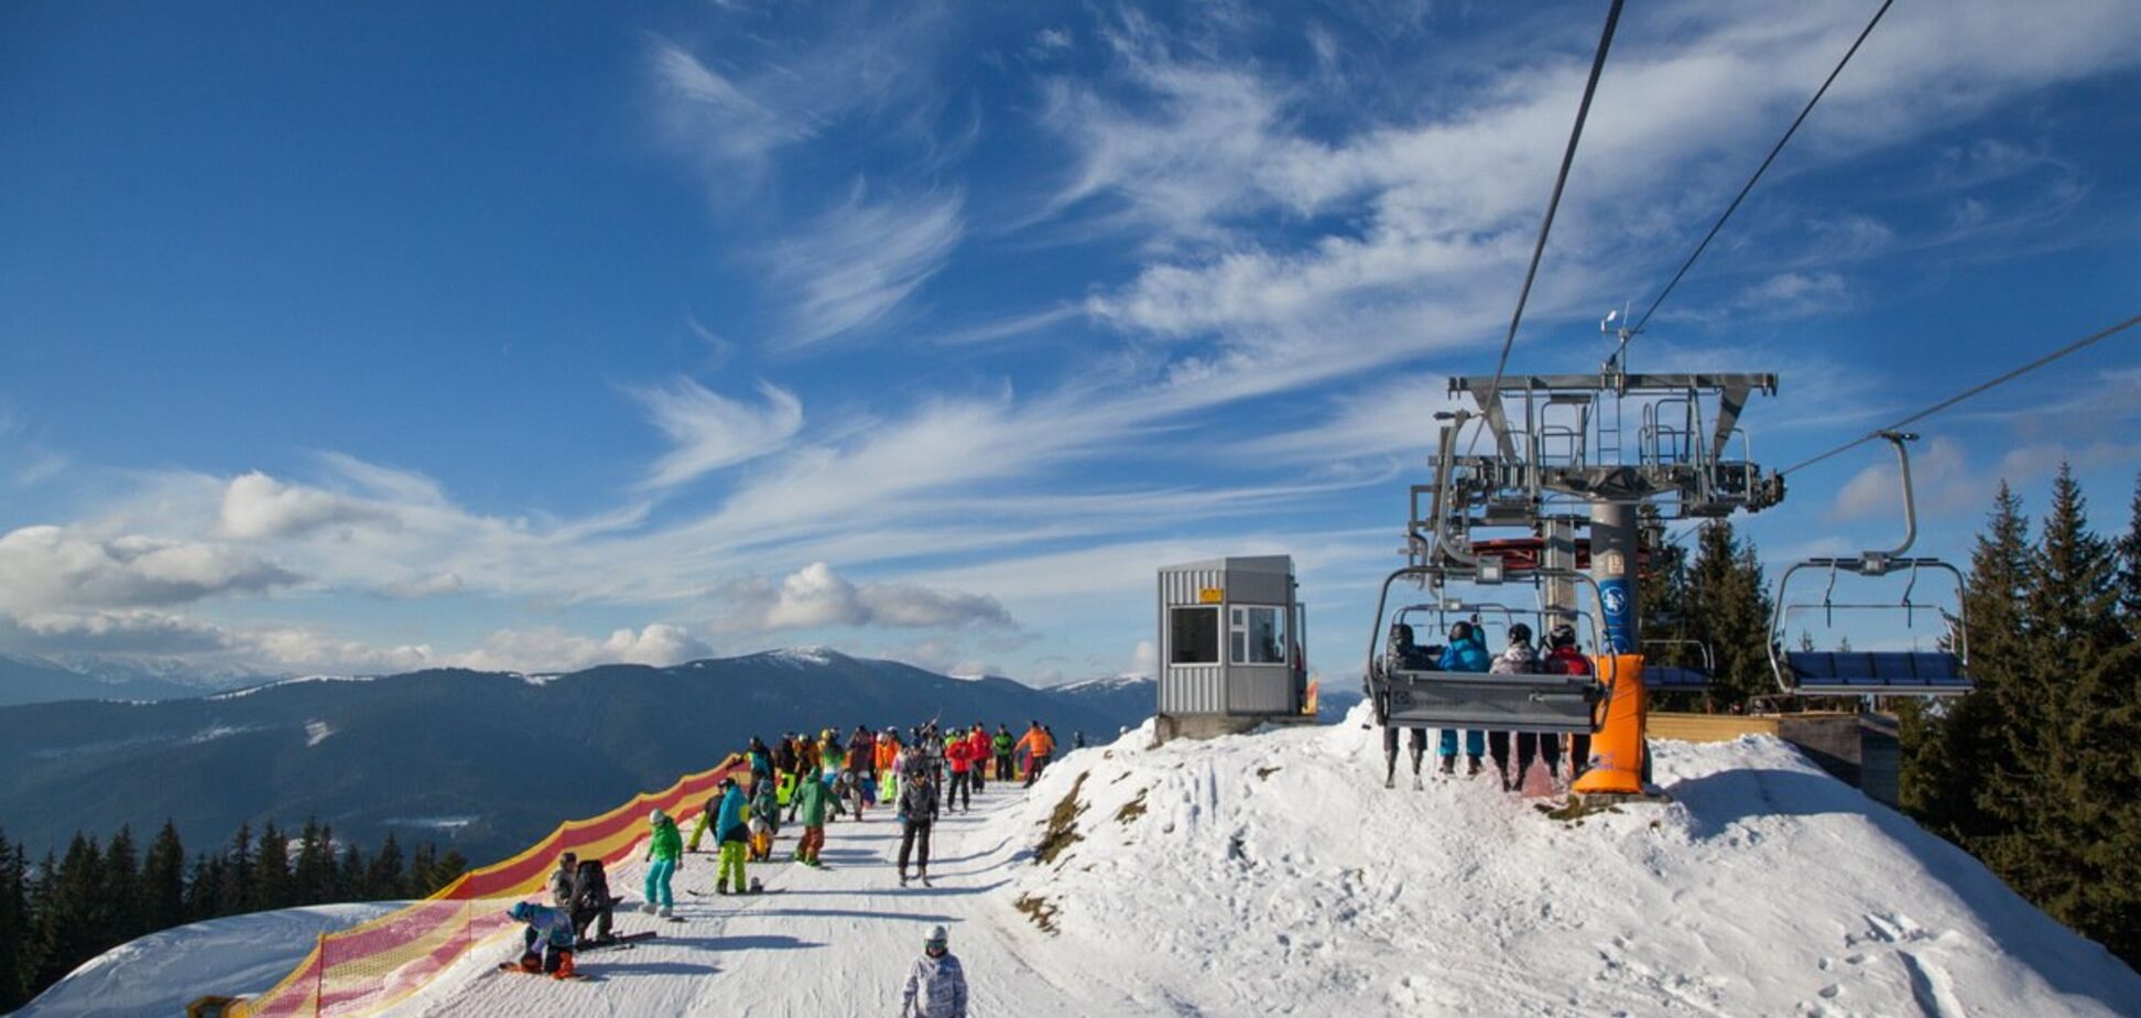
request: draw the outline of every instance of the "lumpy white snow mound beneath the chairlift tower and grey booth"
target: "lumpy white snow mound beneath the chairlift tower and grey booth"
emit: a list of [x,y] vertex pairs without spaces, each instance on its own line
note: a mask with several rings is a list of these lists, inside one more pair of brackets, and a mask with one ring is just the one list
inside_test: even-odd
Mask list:
[[[1000,834],[1036,969],[1135,1014],[2132,1014],[2141,977],[1790,744],[1657,744],[1668,806],[1381,787],[1347,724],[1066,757]],[[1432,763],[1430,763],[1432,769]],[[1047,859],[1047,862],[1043,862]]]

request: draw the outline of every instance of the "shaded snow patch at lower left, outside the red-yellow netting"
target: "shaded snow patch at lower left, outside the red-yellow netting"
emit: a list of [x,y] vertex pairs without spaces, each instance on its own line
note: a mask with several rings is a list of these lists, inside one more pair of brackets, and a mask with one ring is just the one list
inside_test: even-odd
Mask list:
[[321,932],[355,926],[403,904],[313,904],[152,932],[90,958],[15,1014],[167,1018],[186,1014],[186,1003],[206,994],[255,994],[289,975],[313,952],[313,939]]

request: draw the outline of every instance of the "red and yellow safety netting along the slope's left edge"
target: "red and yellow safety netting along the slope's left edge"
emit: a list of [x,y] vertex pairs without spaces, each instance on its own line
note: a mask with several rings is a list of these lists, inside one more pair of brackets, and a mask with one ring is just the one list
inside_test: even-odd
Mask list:
[[728,757],[719,767],[687,774],[659,793],[640,793],[602,817],[565,821],[520,855],[469,870],[422,902],[330,932],[283,982],[229,1014],[358,1016],[394,1005],[471,947],[518,928],[505,917],[505,909],[546,889],[559,853],[617,864],[647,838],[649,810],[659,808],[685,823],[719,789],[722,778],[741,767],[741,757]]

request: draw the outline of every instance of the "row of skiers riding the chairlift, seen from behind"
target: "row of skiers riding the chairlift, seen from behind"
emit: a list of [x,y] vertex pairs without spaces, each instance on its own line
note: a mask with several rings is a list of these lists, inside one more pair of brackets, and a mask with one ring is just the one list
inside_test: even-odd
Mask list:
[[[1546,634],[1544,654],[1531,643],[1531,626],[1516,622],[1509,626],[1509,645],[1501,654],[1492,654],[1486,647],[1486,634],[1475,622],[1456,622],[1449,626],[1449,643],[1434,649],[1422,649],[1413,645],[1413,628],[1407,624],[1396,624],[1392,628],[1392,654],[1407,658],[1428,658],[1430,667],[1437,671],[1484,671],[1490,675],[1591,675],[1591,658],[1586,658],[1576,647],[1576,628],[1569,624],[1559,624]],[[1411,731],[1413,750],[1413,774],[1419,774],[1419,757],[1426,748],[1426,729]],[[1514,735],[1514,739],[1512,739]],[[1396,739],[1396,731],[1387,735]],[[1509,748],[1516,746],[1516,759],[1512,761]],[[1392,742],[1390,746],[1396,746]],[[1392,750],[1396,752],[1396,750]],[[1441,759],[1443,774],[1456,774],[1458,765],[1458,729],[1443,729],[1437,744],[1437,757]],[[1464,774],[1477,776],[1482,772],[1482,757],[1494,761],[1494,772],[1501,776],[1503,791],[1516,791],[1524,782],[1524,772],[1531,769],[1533,761],[1544,761],[1546,776],[1550,780],[1561,780],[1561,735],[1542,735],[1531,731],[1464,731]],[[1591,735],[1569,735],[1569,774],[1567,780],[1576,780],[1584,774],[1591,759]],[[1516,763],[1516,767],[1512,767]]]

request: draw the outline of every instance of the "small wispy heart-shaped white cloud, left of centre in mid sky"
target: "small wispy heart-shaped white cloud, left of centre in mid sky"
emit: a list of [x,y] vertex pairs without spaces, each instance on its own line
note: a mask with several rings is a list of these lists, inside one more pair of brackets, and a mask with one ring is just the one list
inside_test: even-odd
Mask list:
[[764,405],[747,407],[707,392],[692,379],[638,392],[655,426],[674,444],[655,461],[642,486],[683,484],[784,448],[803,429],[803,401],[773,384],[760,384],[758,394]]

